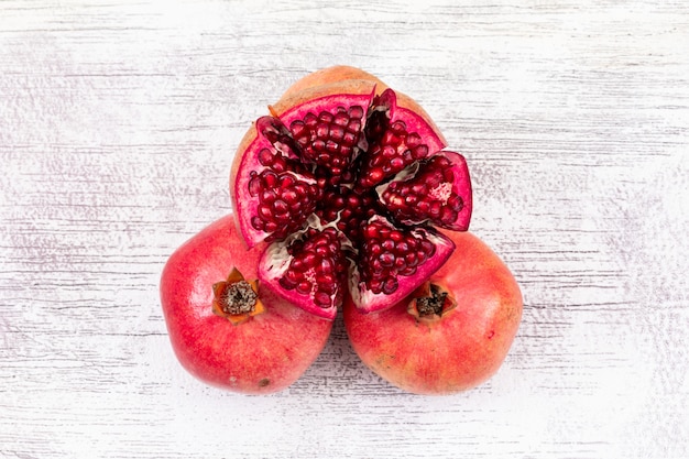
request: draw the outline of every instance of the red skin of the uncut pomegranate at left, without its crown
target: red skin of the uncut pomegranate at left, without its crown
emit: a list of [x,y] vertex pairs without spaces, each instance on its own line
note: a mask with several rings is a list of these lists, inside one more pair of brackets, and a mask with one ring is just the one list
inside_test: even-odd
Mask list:
[[168,259],[161,300],[173,350],[205,383],[244,394],[286,389],[316,360],[332,321],[310,315],[259,286],[265,312],[233,325],[212,313],[212,285],[236,266],[258,276],[259,250],[247,250],[233,216],[194,236]]

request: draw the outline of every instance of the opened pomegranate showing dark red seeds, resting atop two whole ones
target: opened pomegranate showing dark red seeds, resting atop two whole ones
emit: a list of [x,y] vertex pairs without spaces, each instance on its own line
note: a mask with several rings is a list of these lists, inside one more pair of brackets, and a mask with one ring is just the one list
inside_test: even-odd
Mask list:
[[411,98],[352,67],[306,76],[242,140],[230,178],[259,278],[315,315],[351,296],[365,313],[408,296],[464,231],[471,183]]

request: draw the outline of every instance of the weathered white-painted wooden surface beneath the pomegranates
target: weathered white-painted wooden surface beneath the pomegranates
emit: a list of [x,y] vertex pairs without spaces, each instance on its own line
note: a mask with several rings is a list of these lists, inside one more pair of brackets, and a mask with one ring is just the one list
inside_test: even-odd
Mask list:
[[[166,256],[230,210],[234,147],[307,72],[416,98],[474,178],[525,312],[450,397],[338,318],[286,392],[177,364]],[[0,457],[689,457],[685,1],[0,2]]]

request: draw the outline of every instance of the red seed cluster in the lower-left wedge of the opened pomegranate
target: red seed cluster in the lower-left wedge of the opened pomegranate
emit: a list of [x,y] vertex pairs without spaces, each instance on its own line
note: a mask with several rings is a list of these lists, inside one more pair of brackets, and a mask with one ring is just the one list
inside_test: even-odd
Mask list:
[[342,302],[347,261],[333,228],[309,228],[287,251],[292,261],[278,281],[283,288],[309,295],[320,307]]

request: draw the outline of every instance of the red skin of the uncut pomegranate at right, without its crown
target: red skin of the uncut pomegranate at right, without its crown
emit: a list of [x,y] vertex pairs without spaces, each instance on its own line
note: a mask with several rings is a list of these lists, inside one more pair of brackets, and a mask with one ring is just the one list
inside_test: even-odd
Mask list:
[[478,237],[447,231],[457,245],[431,277],[457,300],[435,321],[407,312],[409,300],[361,314],[344,304],[344,326],[361,360],[411,393],[447,395],[473,389],[503,363],[522,319],[520,287],[502,260]]

